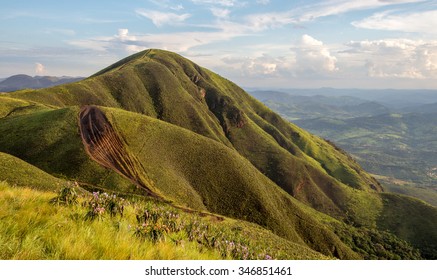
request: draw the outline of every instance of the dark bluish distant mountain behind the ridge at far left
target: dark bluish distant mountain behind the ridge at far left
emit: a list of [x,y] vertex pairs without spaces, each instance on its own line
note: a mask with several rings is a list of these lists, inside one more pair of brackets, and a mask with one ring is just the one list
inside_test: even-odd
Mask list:
[[82,77],[53,77],[53,76],[35,76],[14,75],[0,81],[0,91],[16,91],[25,88],[46,88],[56,85],[72,83],[82,80]]

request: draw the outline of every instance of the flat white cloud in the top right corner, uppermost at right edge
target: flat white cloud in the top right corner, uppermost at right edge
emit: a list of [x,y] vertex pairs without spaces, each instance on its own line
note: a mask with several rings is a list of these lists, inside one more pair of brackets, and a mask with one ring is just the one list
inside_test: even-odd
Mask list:
[[363,20],[354,21],[352,25],[366,29],[437,34],[436,28],[430,28],[437,26],[437,10],[399,15],[376,13]]

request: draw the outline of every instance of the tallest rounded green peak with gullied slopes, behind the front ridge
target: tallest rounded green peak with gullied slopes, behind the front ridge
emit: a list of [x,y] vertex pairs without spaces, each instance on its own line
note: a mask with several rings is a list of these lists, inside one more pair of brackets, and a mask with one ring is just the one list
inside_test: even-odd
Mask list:
[[282,120],[232,82],[174,53],[148,50],[78,83],[10,96],[52,106],[103,105],[223,143],[299,200],[337,217],[349,187],[381,190],[350,157]]

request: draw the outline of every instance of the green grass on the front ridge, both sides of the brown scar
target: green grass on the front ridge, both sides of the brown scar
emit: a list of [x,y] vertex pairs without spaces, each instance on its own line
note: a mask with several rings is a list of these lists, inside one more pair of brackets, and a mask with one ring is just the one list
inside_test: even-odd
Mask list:
[[[300,210],[296,202],[235,150],[166,122],[107,110],[109,116],[115,116],[113,123],[142,162],[146,175],[166,199],[258,223],[327,255],[334,253],[334,246],[339,257],[352,258],[347,247],[310,216],[297,223]],[[77,131],[77,112],[73,107],[6,118],[0,122],[5,135],[0,139],[1,149],[81,185],[135,192],[129,181],[88,158]],[[110,176],[120,179],[111,181]],[[100,184],[102,181],[105,184]],[[278,199],[284,210],[277,209]],[[320,234],[323,232],[326,234]]]

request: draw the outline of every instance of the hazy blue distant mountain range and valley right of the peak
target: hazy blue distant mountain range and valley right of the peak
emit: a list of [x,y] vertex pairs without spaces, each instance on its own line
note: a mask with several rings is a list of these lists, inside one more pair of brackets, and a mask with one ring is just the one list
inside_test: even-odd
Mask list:
[[251,94],[350,152],[386,189],[437,205],[436,91],[291,89]]

